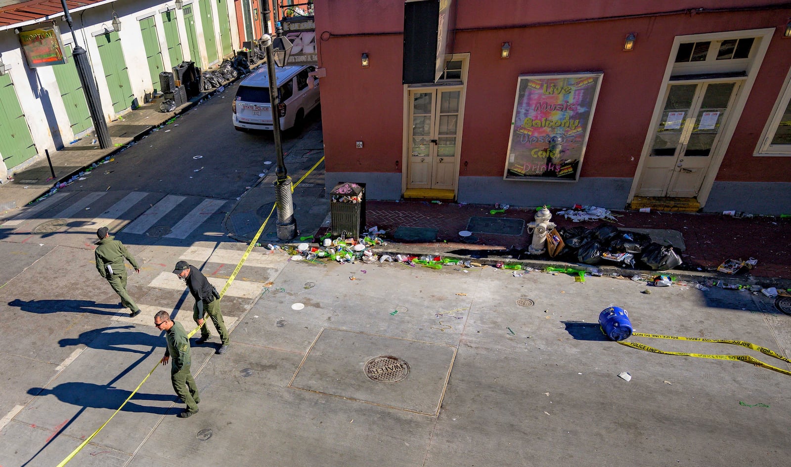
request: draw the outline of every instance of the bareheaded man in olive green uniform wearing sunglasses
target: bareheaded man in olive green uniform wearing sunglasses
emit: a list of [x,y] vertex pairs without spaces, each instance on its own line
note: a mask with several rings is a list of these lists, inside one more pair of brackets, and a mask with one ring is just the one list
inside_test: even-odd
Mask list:
[[187,337],[187,331],[184,330],[184,326],[173,321],[167,311],[157,311],[157,314],[153,317],[153,324],[157,326],[158,330],[165,331],[165,341],[168,342],[168,348],[165,349],[165,356],[162,357],[161,361],[163,365],[167,365],[170,357],[173,357],[173,363],[170,367],[170,382],[173,384],[173,390],[176,391],[176,395],[181,397],[181,400],[187,404],[187,409],[178,416],[187,418],[198,412],[198,404],[200,403],[198,385],[195,384],[195,378],[192,378],[192,373],[190,372],[190,364],[192,363],[190,339]]

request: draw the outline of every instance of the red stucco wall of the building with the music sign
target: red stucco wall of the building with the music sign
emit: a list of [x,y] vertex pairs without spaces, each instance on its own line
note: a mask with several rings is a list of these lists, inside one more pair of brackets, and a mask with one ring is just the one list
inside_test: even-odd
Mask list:
[[[532,2],[531,2],[532,3]],[[633,177],[675,36],[751,28],[777,28],[717,179],[789,181],[791,157],[752,156],[791,65],[791,39],[782,38],[789,9],[749,13],[670,14],[611,21],[510,28],[684,7],[727,8],[751,2],[605,2],[587,6],[561,0],[532,4],[509,0],[456,2],[453,51],[470,54],[460,175],[501,176],[513,100],[520,74],[604,71],[583,177]],[[752,2],[756,4],[756,2]],[[761,2],[770,5],[782,2]],[[322,115],[327,171],[398,172],[403,154],[403,2],[319,0]],[[500,26],[497,29],[477,29]],[[634,51],[623,40],[637,33]],[[364,35],[367,34],[367,35]],[[354,35],[354,36],[349,36]],[[510,42],[511,58],[499,58]],[[370,57],[362,68],[361,53]],[[355,149],[354,141],[364,141]],[[399,164],[396,165],[396,161]],[[465,166],[464,162],[468,164]]]

